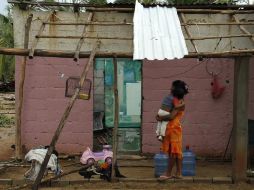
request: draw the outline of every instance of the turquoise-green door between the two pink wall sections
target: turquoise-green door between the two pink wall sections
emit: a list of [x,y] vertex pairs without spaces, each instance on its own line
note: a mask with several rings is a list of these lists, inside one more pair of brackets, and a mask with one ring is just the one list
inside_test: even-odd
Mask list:
[[[119,95],[119,144],[118,151],[138,153],[141,148],[141,62],[131,59],[117,59]],[[104,112],[103,127],[114,127],[114,66],[113,59],[96,59],[95,70],[103,69],[104,105],[96,108]],[[96,75],[95,75],[96,76]],[[99,80],[97,80],[99,81]],[[99,82],[95,83],[99,84]],[[97,89],[100,87],[96,86]],[[98,94],[94,88],[94,96]],[[99,97],[99,96],[98,96]],[[102,102],[100,100],[100,102]],[[94,100],[94,104],[98,101]],[[98,109],[97,109],[98,110]],[[111,130],[112,131],[112,130]],[[109,139],[111,142],[112,139]]]

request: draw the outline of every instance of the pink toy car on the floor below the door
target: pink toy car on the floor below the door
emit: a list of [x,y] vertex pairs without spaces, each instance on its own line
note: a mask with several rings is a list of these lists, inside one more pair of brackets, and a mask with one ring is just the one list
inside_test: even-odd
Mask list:
[[111,164],[113,158],[113,152],[110,150],[110,145],[104,145],[102,152],[93,152],[89,147],[83,152],[80,162],[82,164],[94,164],[98,160],[105,160],[105,162]]

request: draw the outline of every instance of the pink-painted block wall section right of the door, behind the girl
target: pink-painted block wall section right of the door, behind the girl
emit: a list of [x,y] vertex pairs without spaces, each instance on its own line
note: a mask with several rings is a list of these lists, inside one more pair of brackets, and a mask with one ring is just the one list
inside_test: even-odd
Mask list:
[[[249,117],[254,118],[254,59],[250,67]],[[217,64],[213,64],[217,63]],[[222,65],[219,82],[226,86],[221,98],[211,97],[211,75],[206,62],[196,59],[144,61],[143,63],[143,125],[142,151],[158,152],[160,143],[155,137],[155,115],[162,98],[169,93],[172,81],[180,79],[189,85],[186,111],[183,118],[183,145],[190,145],[199,155],[223,155],[232,128],[234,59],[212,59],[208,66]],[[229,83],[226,83],[226,80]]]

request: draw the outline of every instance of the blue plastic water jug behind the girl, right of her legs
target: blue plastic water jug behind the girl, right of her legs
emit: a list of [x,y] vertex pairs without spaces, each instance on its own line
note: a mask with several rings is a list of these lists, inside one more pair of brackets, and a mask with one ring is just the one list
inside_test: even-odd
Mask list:
[[196,175],[196,158],[195,154],[190,150],[189,146],[186,146],[183,152],[183,176],[195,176]]

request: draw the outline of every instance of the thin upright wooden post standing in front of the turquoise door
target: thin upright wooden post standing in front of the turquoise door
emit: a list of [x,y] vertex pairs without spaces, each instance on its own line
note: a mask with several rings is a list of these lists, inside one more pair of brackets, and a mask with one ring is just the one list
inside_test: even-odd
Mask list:
[[116,56],[113,58],[114,63],[114,100],[115,100],[115,112],[114,112],[114,130],[113,130],[113,162],[112,162],[112,179],[115,175],[115,165],[117,159],[117,146],[118,146],[118,125],[119,125],[119,99],[117,89],[117,59]]

